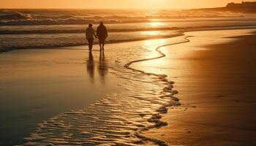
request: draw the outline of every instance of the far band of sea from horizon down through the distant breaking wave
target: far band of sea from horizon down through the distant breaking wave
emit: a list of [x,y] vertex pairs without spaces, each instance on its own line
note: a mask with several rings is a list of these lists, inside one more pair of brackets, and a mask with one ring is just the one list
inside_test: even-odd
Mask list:
[[[113,15],[116,14],[116,15]],[[151,20],[181,21],[182,19],[215,19],[233,18],[235,20],[248,20],[244,15],[220,12],[189,12],[189,11],[152,11],[140,10],[90,10],[90,9],[0,9],[0,26],[26,26],[26,25],[72,25],[99,23],[146,23]],[[180,19],[180,20],[178,20]],[[216,20],[216,19],[215,19]],[[189,20],[190,21],[190,20]]]

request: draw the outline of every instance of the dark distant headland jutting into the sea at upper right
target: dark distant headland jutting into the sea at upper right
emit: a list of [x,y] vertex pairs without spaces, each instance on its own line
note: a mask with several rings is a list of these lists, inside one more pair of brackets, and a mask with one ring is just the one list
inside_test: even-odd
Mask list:
[[193,10],[216,10],[216,11],[228,11],[228,12],[246,12],[246,13],[256,13],[256,1],[247,2],[243,1],[241,3],[228,3],[226,7],[215,7],[215,8],[203,8],[203,9],[193,9]]

